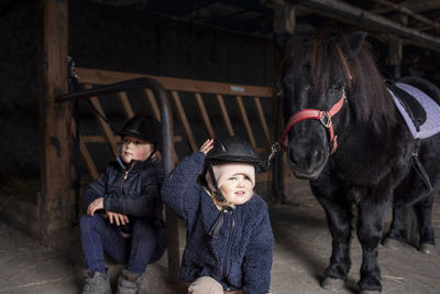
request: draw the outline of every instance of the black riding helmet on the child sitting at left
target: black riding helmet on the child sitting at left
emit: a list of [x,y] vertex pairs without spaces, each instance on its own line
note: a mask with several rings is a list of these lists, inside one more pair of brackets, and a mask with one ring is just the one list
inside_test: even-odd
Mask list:
[[155,150],[161,150],[162,128],[161,122],[151,116],[135,116],[125,122],[120,132],[121,138],[131,135],[152,142]]

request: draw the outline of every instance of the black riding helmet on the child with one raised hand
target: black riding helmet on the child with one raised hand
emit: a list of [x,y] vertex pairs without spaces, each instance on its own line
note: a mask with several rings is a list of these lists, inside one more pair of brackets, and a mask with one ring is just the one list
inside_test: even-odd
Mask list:
[[237,135],[215,139],[213,148],[207,154],[207,161],[211,164],[221,162],[245,162],[258,165],[262,163],[251,144]]

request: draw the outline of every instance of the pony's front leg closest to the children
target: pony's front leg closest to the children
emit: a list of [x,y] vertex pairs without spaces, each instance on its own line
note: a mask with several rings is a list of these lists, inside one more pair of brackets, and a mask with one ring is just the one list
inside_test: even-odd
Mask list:
[[322,286],[328,290],[337,290],[338,287],[342,287],[343,282],[333,280],[346,281],[346,275],[351,266],[351,205],[345,200],[336,203],[322,197],[318,197],[318,200],[326,211],[327,224],[332,238],[330,264],[326,269],[326,280],[322,282]]

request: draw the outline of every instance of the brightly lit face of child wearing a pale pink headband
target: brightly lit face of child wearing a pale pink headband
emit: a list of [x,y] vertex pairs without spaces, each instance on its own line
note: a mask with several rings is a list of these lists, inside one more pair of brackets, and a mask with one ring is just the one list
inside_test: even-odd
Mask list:
[[244,174],[230,176],[220,187],[224,198],[231,204],[245,204],[254,194],[251,179]]

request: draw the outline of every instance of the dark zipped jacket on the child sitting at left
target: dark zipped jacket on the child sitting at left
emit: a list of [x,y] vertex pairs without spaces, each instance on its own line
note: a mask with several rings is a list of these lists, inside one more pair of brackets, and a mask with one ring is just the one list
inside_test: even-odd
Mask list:
[[[161,186],[164,179],[162,163],[131,161],[125,165],[121,157],[110,162],[97,181],[81,197],[84,211],[96,198],[103,197],[106,210],[124,214],[131,226],[138,217],[162,220]],[[129,232],[129,231],[128,231]]]

